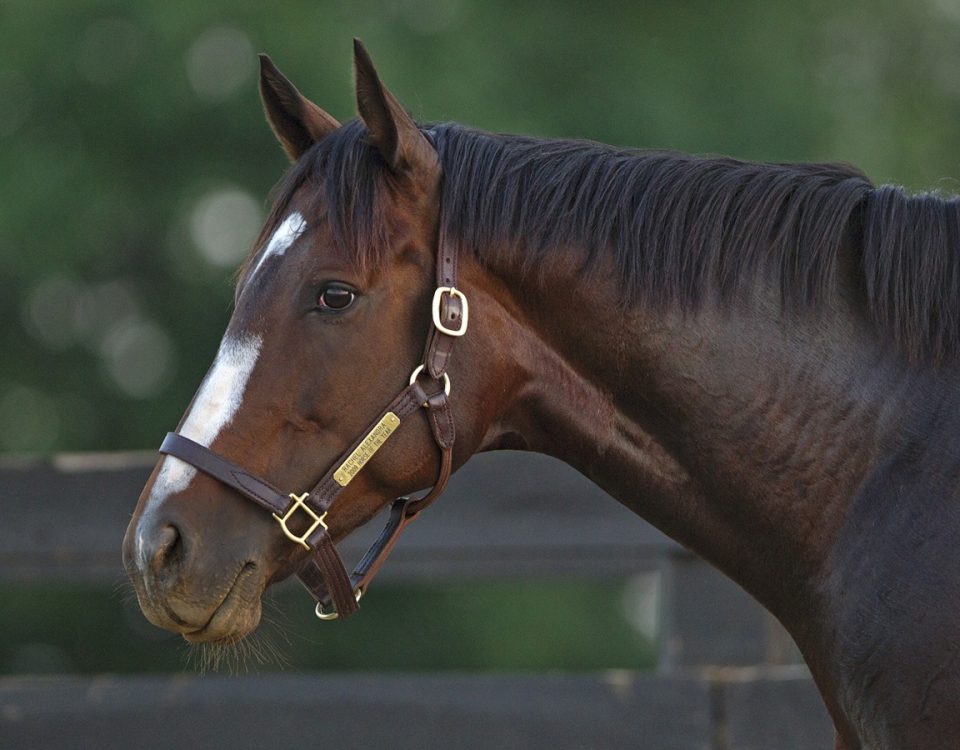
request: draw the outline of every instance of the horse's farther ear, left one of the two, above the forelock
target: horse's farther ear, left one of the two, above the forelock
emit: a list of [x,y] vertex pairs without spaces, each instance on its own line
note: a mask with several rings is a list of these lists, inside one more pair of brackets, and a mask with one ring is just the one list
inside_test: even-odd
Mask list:
[[340,123],[297,91],[267,55],[260,55],[260,99],[267,122],[292,161]]

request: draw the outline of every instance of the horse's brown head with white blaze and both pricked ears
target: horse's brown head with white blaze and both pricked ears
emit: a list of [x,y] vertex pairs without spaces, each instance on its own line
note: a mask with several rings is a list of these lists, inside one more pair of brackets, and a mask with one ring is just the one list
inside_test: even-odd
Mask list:
[[[332,546],[391,499],[445,480],[488,439],[503,398],[503,388],[484,385],[494,381],[480,378],[479,363],[507,345],[509,316],[473,266],[459,270],[488,323],[471,326],[453,361],[449,347],[428,344],[424,353],[438,306],[452,315],[450,334],[468,324],[463,295],[438,292],[434,283],[437,152],[359,42],[355,68],[360,117],[341,126],[261,58],[267,119],[294,166],[241,269],[233,315],[176,438],[230,476],[255,477],[249,482],[261,490],[245,498],[230,477],[218,481],[215,471],[198,470],[202,459],[188,463],[170,448],[123,544],[147,618],[190,642],[231,642],[251,632],[266,587],[308,561],[314,529]],[[453,336],[441,335],[441,344],[446,338]],[[505,368],[496,357],[483,362],[487,374]],[[501,375],[501,384],[509,382]],[[451,380],[455,396],[446,400]],[[402,398],[391,402],[398,391]],[[395,434],[396,425],[382,419],[367,429],[398,399],[410,413]],[[428,414],[439,402],[445,426]],[[346,482],[338,469],[352,472]],[[325,476],[336,492],[320,498],[331,506],[321,531],[319,510],[308,512],[296,498]],[[268,486],[283,488],[284,502],[290,493],[286,512],[278,506],[271,517],[249,502],[262,500]]]

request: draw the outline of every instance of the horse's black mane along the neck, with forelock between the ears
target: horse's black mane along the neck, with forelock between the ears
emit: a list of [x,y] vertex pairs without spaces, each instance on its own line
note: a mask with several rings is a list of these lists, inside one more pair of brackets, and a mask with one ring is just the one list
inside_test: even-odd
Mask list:
[[[440,231],[481,262],[533,272],[562,250],[585,272],[612,260],[626,305],[729,303],[761,272],[784,305],[835,289],[853,239],[870,314],[914,360],[960,349],[960,199],[874,187],[854,167],[763,164],[431,128],[443,169]],[[255,247],[310,184],[311,209],[358,264],[383,261],[379,217],[397,186],[357,120],[314,145],[277,191]],[[249,263],[249,259],[248,259]],[[241,278],[244,270],[241,270]]]

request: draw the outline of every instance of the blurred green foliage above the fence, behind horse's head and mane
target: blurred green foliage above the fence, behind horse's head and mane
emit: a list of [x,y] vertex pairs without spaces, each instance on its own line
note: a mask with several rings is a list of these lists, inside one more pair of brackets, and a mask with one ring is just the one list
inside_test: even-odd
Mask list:
[[958,0],[2,0],[0,452],[176,424],[285,168],[255,53],[346,119],[353,36],[425,120],[960,174]]

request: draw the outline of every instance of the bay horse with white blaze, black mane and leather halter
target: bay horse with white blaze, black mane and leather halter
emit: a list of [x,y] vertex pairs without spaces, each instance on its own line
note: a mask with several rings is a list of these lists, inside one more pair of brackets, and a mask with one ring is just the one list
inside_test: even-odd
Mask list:
[[130,521],[146,617],[236,641],[293,573],[346,617],[451,471],[540,451],[766,606],[837,748],[960,746],[958,200],[421,127],[354,62],[341,125],[261,57],[294,164]]

